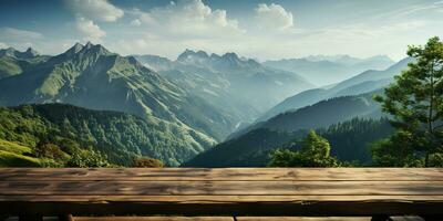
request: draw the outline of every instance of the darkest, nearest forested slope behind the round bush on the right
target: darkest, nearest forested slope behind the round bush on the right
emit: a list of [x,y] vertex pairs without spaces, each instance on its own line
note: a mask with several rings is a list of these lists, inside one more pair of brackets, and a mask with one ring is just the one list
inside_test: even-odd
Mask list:
[[[340,160],[370,164],[368,144],[388,137],[392,133],[389,122],[383,119],[353,118],[317,129],[331,145],[331,155]],[[297,149],[299,139],[308,133],[301,129],[295,133],[267,128],[251,130],[235,139],[218,144],[216,147],[197,155],[184,164],[186,167],[264,167],[270,151],[278,148]]]

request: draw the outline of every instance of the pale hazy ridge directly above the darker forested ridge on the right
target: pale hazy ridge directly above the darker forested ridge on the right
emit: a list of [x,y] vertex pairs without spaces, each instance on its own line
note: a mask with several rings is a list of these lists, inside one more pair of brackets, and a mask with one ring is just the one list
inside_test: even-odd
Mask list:
[[312,105],[322,99],[338,96],[358,95],[382,88],[391,83],[393,81],[393,76],[400,74],[402,70],[408,67],[408,63],[412,61],[413,60],[411,57],[406,57],[384,71],[365,71],[328,88],[320,87],[301,92],[295,96],[286,98],[284,102],[264,114],[258,120],[266,120],[280,113],[298,109],[307,105]]

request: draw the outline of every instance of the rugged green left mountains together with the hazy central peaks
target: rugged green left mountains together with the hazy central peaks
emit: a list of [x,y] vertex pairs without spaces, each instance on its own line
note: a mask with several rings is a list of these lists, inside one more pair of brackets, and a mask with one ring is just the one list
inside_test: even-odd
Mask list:
[[[133,56],[92,43],[76,43],[55,56],[39,55],[32,49],[8,49],[0,59],[8,64],[2,65],[6,74],[0,78],[1,106],[65,103],[134,114],[153,131],[163,131],[158,136],[173,135],[189,145],[173,146],[174,151],[189,149],[192,155],[223,140],[284,97],[312,86],[297,74],[234,53],[205,56],[188,50],[177,61],[167,61],[174,69],[159,70],[161,74]],[[157,145],[155,148],[171,149],[167,143]],[[159,152],[155,157],[168,165],[193,157],[186,154],[169,159]]]

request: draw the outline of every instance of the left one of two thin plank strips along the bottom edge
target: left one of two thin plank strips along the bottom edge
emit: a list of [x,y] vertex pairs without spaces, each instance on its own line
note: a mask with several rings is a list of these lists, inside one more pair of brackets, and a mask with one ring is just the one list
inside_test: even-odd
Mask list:
[[234,221],[231,217],[74,217],[74,221]]

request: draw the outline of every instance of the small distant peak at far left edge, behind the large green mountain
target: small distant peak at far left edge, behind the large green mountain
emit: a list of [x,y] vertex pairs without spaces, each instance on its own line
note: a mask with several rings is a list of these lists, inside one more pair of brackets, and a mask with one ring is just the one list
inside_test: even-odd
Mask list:
[[40,55],[31,48],[24,52],[13,48],[0,50],[0,80],[21,74],[48,59],[49,56]]

